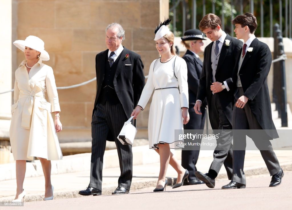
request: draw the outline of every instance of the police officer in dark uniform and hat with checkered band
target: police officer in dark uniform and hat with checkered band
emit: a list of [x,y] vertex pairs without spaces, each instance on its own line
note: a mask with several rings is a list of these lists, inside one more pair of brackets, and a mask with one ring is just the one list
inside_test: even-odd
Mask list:
[[[199,53],[204,51],[204,39],[203,34],[198,29],[190,29],[185,31],[184,36],[180,37],[182,44],[187,48],[183,59],[187,63],[187,83],[189,87],[189,107],[194,107],[197,92],[199,87],[199,79],[202,73],[203,62],[200,60]],[[194,109],[189,109],[190,121],[183,126],[184,130],[195,129],[203,130],[206,121],[206,105],[207,102],[204,100],[201,106],[202,115],[195,113]],[[199,140],[198,140],[199,142]],[[182,150],[182,166],[189,171],[189,181],[185,180],[183,185],[197,185],[204,184],[203,181],[199,180],[195,172],[197,171],[196,164],[198,161],[200,147],[194,150]]]

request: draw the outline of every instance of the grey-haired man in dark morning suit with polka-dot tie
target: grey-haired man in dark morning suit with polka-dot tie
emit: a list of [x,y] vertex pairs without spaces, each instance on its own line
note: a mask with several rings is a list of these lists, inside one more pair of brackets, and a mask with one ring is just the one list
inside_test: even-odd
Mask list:
[[106,140],[117,146],[121,175],[112,194],[129,193],[133,174],[132,145],[117,139],[130,118],[145,85],[140,55],[122,46],[125,31],[118,23],[106,28],[107,50],[95,58],[97,92],[93,108],[90,183],[81,195],[101,195],[102,164]]

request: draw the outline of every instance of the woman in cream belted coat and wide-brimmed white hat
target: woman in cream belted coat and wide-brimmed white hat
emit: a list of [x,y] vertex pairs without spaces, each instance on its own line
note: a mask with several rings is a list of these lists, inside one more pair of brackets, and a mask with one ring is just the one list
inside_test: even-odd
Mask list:
[[[24,51],[26,60],[15,71],[14,104],[11,106],[10,143],[16,161],[17,190],[14,201],[25,196],[23,181],[26,160],[38,157],[44,171],[45,197],[53,199],[51,160],[62,159],[56,132],[62,130],[60,105],[53,69],[42,61],[49,60],[44,42],[35,36],[17,40],[13,44]],[[50,102],[45,99],[48,93]],[[55,123],[51,116],[55,113]]]

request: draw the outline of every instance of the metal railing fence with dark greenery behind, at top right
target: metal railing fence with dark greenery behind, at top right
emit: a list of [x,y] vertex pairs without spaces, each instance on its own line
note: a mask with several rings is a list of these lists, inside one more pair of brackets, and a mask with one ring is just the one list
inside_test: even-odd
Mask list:
[[169,4],[176,36],[198,28],[207,13],[218,15],[223,30],[233,36],[231,20],[239,14],[251,12],[258,20],[256,36],[273,37],[273,24],[279,23],[284,37],[292,38],[292,0],[170,0]]

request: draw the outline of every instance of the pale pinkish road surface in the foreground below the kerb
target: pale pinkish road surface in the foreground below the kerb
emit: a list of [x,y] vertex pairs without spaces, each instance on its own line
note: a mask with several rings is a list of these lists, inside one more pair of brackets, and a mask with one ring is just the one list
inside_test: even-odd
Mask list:
[[215,188],[206,185],[183,186],[166,192],[152,192],[153,187],[127,195],[84,196],[52,201],[26,202],[24,207],[0,209],[291,209],[292,172],[284,172],[278,187],[268,187],[268,174],[247,177],[246,189],[221,190],[228,181],[216,181]]

